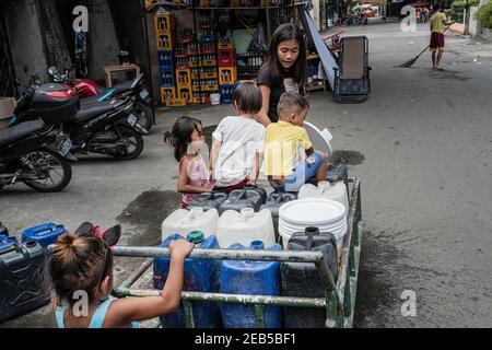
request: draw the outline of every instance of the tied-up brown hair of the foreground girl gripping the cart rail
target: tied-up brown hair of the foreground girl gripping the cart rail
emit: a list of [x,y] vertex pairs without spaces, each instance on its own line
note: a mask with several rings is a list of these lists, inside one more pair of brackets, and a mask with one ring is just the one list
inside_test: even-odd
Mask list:
[[49,260],[57,296],[70,305],[78,301],[73,299],[77,291],[85,291],[89,301],[94,301],[101,282],[112,276],[112,250],[103,240],[94,236],[60,236]]

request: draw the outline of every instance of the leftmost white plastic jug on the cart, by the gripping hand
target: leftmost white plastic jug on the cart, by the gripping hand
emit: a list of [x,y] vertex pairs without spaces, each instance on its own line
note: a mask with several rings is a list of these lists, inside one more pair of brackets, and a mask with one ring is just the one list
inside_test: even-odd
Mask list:
[[201,231],[206,238],[216,234],[219,212],[216,209],[203,211],[202,208],[191,210],[179,209],[173,212],[162,224],[162,240],[179,234],[186,237],[190,232]]

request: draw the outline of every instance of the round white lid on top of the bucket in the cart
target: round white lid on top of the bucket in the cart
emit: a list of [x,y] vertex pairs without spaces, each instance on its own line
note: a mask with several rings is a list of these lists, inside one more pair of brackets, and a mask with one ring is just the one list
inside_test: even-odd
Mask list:
[[345,219],[347,209],[338,201],[308,198],[290,201],[280,208],[281,220],[300,225],[324,225]]

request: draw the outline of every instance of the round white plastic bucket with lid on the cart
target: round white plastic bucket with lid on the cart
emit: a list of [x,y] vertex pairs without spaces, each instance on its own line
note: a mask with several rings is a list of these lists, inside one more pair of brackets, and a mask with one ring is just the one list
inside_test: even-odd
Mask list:
[[286,249],[295,233],[307,228],[318,228],[319,232],[335,235],[339,252],[343,246],[348,229],[347,209],[335,200],[307,198],[288,202],[280,208],[279,233]]

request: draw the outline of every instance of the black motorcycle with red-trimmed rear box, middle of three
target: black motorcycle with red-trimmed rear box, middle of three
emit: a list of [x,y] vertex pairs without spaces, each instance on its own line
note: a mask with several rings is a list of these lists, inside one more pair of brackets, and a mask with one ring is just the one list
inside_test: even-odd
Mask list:
[[11,125],[40,117],[70,137],[75,155],[97,153],[133,160],[143,151],[143,138],[132,106],[129,97],[122,97],[81,108],[72,88],[42,84],[35,74],[16,104]]

